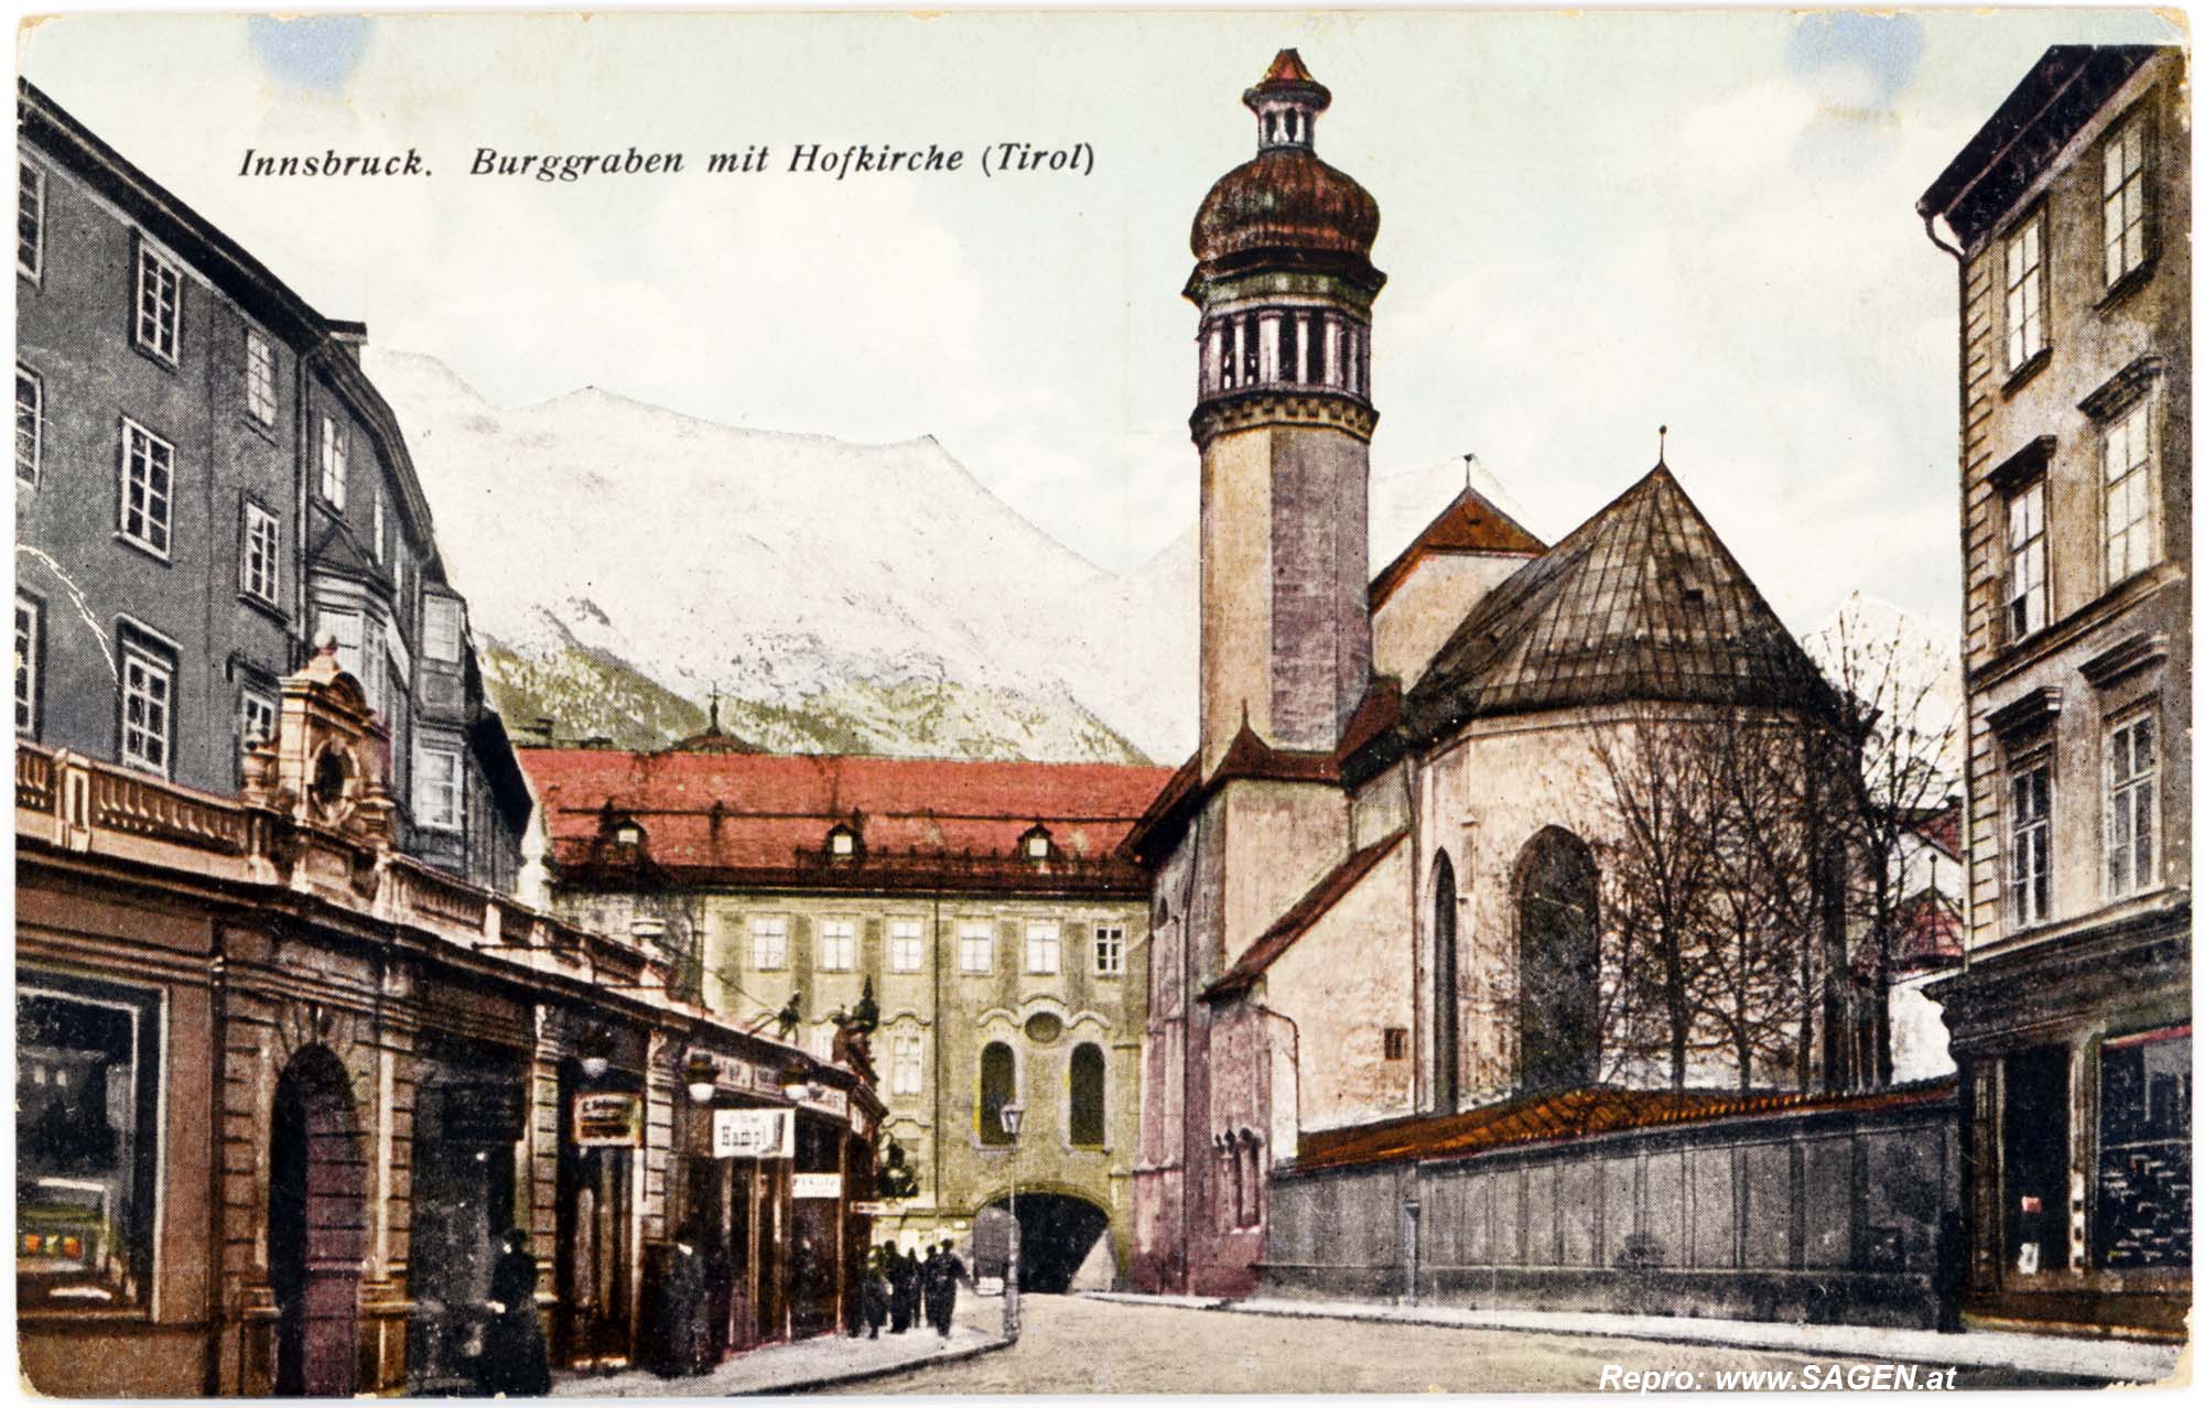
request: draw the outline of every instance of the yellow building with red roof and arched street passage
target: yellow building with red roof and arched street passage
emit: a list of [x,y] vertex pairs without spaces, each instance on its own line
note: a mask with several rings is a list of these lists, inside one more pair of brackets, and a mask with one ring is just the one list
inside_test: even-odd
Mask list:
[[[1113,851],[1166,769],[760,756],[719,734],[520,756],[558,912],[659,936],[723,1020],[820,1055],[864,1011],[888,1157],[917,1179],[882,1241],[963,1241],[1016,1179],[1025,1285],[1117,1280],[1148,928]],[[981,1236],[983,1271],[1001,1247]]]

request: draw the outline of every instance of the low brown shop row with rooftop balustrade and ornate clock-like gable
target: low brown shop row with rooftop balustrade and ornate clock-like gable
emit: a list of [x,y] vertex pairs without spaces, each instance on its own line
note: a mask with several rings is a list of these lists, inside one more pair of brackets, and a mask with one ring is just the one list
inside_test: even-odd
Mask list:
[[280,683],[238,798],[18,743],[29,1382],[478,1390],[509,1232],[560,1366],[650,1355],[681,1225],[719,1234],[714,1349],[838,1326],[871,1241],[862,1073],[403,855],[381,747],[333,652]]

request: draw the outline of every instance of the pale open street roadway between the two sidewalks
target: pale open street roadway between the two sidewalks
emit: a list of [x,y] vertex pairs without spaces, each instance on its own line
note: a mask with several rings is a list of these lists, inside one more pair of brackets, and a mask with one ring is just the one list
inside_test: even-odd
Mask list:
[[[974,1315],[994,1315],[981,1300]],[[965,1315],[959,1313],[959,1320]],[[976,1320],[974,1320],[976,1324]],[[1596,1335],[1477,1331],[1342,1320],[1281,1320],[1150,1304],[1031,1296],[1007,1351],[851,1384],[842,1393],[1596,1393],[1602,1371],[1827,1373],[1832,1360]],[[1843,1360],[1856,1364],[1856,1360]],[[1922,1366],[1940,1368],[1935,1364]],[[1959,1388],[2078,1379],[1959,1368]]]

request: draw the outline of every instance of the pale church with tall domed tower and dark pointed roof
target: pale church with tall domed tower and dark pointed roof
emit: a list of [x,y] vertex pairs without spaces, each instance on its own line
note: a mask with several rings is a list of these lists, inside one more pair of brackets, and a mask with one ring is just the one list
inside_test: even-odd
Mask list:
[[1272,1199],[1327,1137],[1849,1084],[1803,1029],[1750,1077],[1699,1033],[1688,1071],[1605,1036],[1618,769],[1671,729],[1834,721],[1832,692],[1666,463],[1554,544],[1466,487],[1373,580],[1378,203],[1318,159],[1331,95],[1294,51],[1243,101],[1256,154],[1201,203],[1186,284],[1201,740],[1126,840],[1155,936],[1135,1282],[1225,1296],[1292,1271]]

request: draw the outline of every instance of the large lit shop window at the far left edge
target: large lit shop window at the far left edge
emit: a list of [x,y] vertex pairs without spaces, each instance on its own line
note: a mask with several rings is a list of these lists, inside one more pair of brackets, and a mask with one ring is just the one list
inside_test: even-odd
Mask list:
[[156,996],[24,972],[15,989],[15,1304],[143,1304]]

